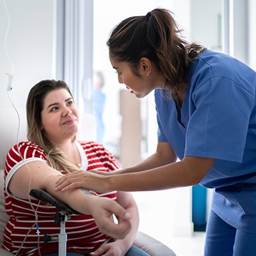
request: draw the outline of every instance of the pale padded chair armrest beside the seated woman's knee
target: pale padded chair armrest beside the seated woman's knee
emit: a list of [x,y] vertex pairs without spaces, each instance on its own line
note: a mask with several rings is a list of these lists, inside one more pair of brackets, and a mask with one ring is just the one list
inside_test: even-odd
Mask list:
[[176,254],[163,243],[140,231],[138,231],[133,245],[147,252],[150,256],[176,256]]

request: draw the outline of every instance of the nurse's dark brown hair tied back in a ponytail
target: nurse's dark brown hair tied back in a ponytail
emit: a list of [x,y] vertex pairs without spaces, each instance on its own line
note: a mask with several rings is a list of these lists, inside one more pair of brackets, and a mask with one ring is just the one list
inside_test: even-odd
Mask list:
[[117,61],[127,61],[136,76],[142,57],[148,58],[166,77],[165,88],[177,99],[184,92],[191,61],[204,47],[189,45],[171,12],[154,9],[145,16],[130,17],[116,26],[107,42],[109,52]]

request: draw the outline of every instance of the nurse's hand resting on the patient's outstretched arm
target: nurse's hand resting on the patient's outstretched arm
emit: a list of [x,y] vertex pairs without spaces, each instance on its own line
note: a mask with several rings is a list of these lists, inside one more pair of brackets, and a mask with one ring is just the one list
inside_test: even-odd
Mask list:
[[54,190],[68,191],[74,188],[84,188],[98,193],[106,193],[109,191],[108,175],[84,172],[83,170],[68,173],[56,182]]

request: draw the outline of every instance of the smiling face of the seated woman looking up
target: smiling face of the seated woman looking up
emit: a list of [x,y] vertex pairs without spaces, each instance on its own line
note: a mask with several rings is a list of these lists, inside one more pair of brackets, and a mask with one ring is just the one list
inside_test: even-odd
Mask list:
[[41,129],[55,145],[73,138],[79,129],[79,111],[65,89],[49,92],[44,99]]

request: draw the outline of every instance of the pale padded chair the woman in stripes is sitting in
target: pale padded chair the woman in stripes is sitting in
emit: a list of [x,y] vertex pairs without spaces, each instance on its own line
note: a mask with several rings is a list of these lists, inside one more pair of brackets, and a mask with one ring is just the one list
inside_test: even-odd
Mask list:
[[[20,132],[19,141],[26,141],[26,111],[18,109],[20,115]],[[80,117],[81,134],[80,140],[95,140],[94,120],[92,115],[83,114]],[[1,109],[1,125],[0,125],[0,255],[13,256],[2,248],[3,232],[8,221],[8,215],[4,210],[4,163],[8,150],[17,143],[18,116],[13,108]],[[150,223],[149,223],[150,225]],[[165,227],[163,227],[165,228]],[[161,230],[159,230],[161,232]],[[44,236],[44,234],[42,234]],[[134,245],[138,246],[151,256],[175,256],[175,253],[160,243],[156,239],[147,236],[143,232],[138,232]]]

